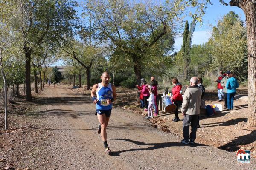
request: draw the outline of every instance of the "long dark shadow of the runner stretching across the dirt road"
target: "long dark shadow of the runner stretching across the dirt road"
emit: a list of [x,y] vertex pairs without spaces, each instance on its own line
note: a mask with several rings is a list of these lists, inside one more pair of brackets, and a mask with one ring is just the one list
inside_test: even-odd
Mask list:
[[[111,156],[119,156],[120,153],[122,152],[130,152],[130,151],[140,151],[140,150],[154,150],[154,149],[160,149],[160,148],[166,148],[166,147],[174,147],[174,146],[185,146],[186,144],[180,143],[180,142],[163,142],[163,143],[144,143],[140,141],[134,141],[131,139],[122,139],[122,138],[116,138],[116,139],[111,139],[111,140],[122,140],[122,141],[127,141],[127,142],[132,142],[137,145],[143,145],[143,146],[151,146],[148,148],[134,148],[134,149],[128,149],[128,150],[120,150],[120,151],[113,151],[111,152]],[[193,145],[188,145],[191,147],[196,147],[196,146],[206,146],[204,144],[193,144]]]

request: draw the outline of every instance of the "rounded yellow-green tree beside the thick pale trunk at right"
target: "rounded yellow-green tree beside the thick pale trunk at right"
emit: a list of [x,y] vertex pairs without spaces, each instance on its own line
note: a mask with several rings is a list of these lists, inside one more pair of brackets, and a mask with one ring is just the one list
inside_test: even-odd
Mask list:
[[243,22],[237,14],[230,11],[212,29],[212,37],[209,39],[212,69],[230,70],[241,78],[247,77],[246,42],[246,28]]

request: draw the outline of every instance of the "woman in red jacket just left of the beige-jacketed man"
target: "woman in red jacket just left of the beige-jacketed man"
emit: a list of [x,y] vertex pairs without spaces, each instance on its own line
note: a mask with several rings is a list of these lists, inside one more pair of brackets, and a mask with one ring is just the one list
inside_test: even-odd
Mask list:
[[172,120],[173,122],[178,122],[180,120],[178,116],[178,106],[182,105],[182,94],[180,93],[182,85],[179,83],[178,79],[172,79],[172,85],[174,87],[172,88],[172,102],[176,105],[176,109],[174,111],[175,117]]

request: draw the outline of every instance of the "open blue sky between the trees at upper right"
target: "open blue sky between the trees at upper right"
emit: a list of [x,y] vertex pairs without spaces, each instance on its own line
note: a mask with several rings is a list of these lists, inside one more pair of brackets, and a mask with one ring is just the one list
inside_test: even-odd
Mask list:
[[[213,5],[208,5],[206,13],[203,17],[203,24],[200,27],[200,24],[197,23],[195,32],[192,38],[192,44],[202,44],[208,41],[211,36],[212,26],[215,26],[218,23],[218,20],[221,19],[229,11],[234,11],[236,14],[241,17],[241,20],[245,21],[244,12],[238,7],[224,6],[219,3],[218,0],[214,0]],[[213,0],[212,0],[213,2]],[[191,20],[189,21],[191,22]],[[178,37],[175,39],[175,51],[179,51],[182,45],[183,37]]]

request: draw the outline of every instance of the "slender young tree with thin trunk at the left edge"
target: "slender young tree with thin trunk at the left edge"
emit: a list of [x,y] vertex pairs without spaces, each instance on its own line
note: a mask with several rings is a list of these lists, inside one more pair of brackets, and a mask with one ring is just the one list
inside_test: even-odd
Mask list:
[[[8,111],[7,111],[7,88],[8,76],[17,74],[17,65],[20,60],[20,34],[12,28],[12,20],[15,19],[13,6],[7,1],[1,1],[0,13],[0,70],[4,82],[4,109],[5,109],[5,129],[8,128]],[[12,77],[13,78],[13,77]]]

